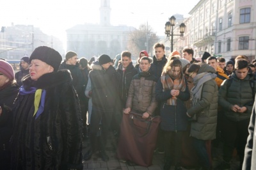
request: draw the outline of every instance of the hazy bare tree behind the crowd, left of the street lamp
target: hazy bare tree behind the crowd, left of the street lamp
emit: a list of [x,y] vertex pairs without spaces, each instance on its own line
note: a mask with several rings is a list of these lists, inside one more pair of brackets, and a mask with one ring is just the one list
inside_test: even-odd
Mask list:
[[[152,27],[147,24],[141,24],[139,29],[131,31],[128,35],[127,49],[138,57],[141,50],[148,49],[148,55],[152,54],[152,47],[159,41]],[[148,47],[147,47],[148,45]]]

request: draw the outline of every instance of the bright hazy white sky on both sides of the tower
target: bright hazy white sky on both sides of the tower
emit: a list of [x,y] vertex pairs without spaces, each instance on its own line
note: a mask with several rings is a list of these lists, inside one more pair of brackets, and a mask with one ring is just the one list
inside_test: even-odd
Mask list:
[[[164,24],[173,14],[188,17],[200,0],[111,0],[111,24],[151,26],[164,35]],[[84,23],[99,23],[100,0],[4,0],[1,1],[0,27],[33,24],[65,40],[65,30]]]

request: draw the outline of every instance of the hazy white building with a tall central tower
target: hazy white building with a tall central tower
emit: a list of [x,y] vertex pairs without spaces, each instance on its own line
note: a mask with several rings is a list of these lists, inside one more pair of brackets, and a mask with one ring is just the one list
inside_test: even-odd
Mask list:
[[127,37],[134,27],[111,26],[110,0],[101,0],[100,24],[80,24],[67,29],[67,50],[87,59],[100,54],[114,58],[127,50]]

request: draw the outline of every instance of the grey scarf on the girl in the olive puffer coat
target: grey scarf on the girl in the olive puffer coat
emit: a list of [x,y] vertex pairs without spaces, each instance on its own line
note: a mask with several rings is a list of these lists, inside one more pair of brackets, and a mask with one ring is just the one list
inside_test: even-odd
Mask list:
[[216,76],[217,75],[215,73],[207,73],[207,72],[199,73],[198,75],[196,75],[196,77],[193,79],[195,86],[191,89],[191,94],[193,97],[193,105],[196,105],[198,101],[201,100],[204,83],[211,79],[215,79]]

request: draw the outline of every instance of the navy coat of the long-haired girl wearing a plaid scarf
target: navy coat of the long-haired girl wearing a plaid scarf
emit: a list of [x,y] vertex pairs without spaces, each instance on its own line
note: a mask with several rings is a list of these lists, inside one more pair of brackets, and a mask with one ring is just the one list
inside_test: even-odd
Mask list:
[[177,105],[167,105],[166,100],[172,98],[171,90],[163,91],[161,79],[156,85],[156,100],[161,102],[161,129],[166,131],[184,131],[188,126],[188,118],[186,116],[186,106],[184,101],[189,100],[188,83],[186,82],[185,91],[180,91],[177,96]]

